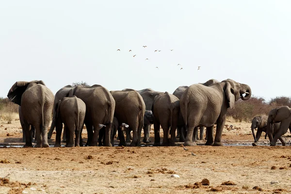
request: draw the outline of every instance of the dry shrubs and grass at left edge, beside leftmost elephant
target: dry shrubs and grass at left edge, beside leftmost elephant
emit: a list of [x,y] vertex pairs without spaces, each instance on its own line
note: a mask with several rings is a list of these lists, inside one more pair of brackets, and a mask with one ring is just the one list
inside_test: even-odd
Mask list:
[[18,105],[8,98],[0,98],[0,119],[11,124],[15,118],[18,118]]

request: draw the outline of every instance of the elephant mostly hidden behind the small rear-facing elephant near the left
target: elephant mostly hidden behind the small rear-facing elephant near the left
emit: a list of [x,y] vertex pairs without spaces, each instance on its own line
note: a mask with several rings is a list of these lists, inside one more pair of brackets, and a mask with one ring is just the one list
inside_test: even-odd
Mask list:
[[[52,122],[51,122],[51,126],[50,126],[49,133],[48,133],[48,139],[51,138],[51,135],[52,135],[53,130],[55,129],[55,125],[56,125],[55,107],[58,104],[59,100],[62,100],[63,97],[68,97],[69,91],[72,88],[74,88],[74,87],[71,85],[66,85],[65,87],[63,87],[59,91],[57,91],[57,93],[55,95],[55,99],[54,99],[54,103],[53,103]],[[64,129],[64,133],[63,133],[63,142],[65,142],[65,129]]]

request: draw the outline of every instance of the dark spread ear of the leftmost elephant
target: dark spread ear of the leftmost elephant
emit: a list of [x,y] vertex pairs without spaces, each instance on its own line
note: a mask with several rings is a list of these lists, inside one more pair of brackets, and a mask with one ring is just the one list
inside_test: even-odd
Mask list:
[[10,88],[7,97],[14,103],[21,105],[21,97],[25,92],[30,82],[28,81],[16,81],[16,83]]

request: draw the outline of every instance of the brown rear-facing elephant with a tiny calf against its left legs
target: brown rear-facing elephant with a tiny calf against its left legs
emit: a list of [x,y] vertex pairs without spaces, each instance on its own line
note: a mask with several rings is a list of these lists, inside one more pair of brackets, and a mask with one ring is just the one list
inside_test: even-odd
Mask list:
[[[129,130],[133,131],[133,138],[129,146],[139,146],[146,105],[141,95],[132,89],[110,91],[115,100],[114,116],[118,123],[127,123]],[[123,133],[118,131],[119,146],[126,146]],[[129,134],[127,134],[129,136]]]

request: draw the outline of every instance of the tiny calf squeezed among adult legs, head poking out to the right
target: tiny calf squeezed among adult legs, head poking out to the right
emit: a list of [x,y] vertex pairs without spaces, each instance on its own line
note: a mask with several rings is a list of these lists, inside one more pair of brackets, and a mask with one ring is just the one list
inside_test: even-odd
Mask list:
[[[117,118],[114,116],[113,117],[113,123],[112,123],[112,127],[111,127],[111,137],[110,137],[110,141],[111,141],[111,145],[114,146],[114,137],[116,135],[116,131],[118,130],[118,134],[121,133],[121,135],[124,136],[124,128],[128,128],[129,125],[122,123],[121,125],[119,125]],[[98,137],[98,146],[103,146],[103,142],[105,142],[105,127],[103,127],[102,129],[100,129],[99,131],[99,137]]]

